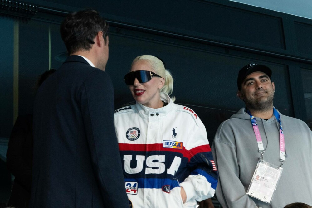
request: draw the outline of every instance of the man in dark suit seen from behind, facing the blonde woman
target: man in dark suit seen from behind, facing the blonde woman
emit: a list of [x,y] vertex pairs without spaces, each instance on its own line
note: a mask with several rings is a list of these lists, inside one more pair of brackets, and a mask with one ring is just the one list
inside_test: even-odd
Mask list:
[[129,207],[104,72],[108,25],[83,10],[60,31],[70,56],[36,95],[30,207]]

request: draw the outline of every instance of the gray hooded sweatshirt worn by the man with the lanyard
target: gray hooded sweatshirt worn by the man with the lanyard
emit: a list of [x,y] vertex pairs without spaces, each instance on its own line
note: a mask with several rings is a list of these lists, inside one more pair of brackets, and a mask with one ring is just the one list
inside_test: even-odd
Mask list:
[[[219,126],[212,153],[219,171],[216,195],[224,208],[275,208],[294,202],[312,206],[312,132],[299,119],[284,115],[280,118],[287,157],[271,205],[246,195],[260,157],[246,109],[240,109]],[[256,120],[265,148],[263,159],[280,166],[279,123],[275,116]]]

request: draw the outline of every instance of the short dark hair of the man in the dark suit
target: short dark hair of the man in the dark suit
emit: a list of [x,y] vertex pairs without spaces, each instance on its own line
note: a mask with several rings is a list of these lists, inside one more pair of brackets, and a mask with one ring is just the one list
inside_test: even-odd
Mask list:
[[99,31],[103,32],[106,44],[108,23],[100,14],[92,9],[72,12],[63,20],[60,32],[69,54],[80,50],[89,51]]

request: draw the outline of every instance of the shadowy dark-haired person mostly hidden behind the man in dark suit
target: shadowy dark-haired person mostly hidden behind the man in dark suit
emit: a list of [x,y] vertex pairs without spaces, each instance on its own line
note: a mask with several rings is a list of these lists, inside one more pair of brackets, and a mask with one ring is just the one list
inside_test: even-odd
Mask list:
[[[41,74],[37,88],[56,70]],[[7,149],[7,169],[14,175],[8,206],[28,207],[32,184],[33,134],[32,114],[19,115],[13,126]]]

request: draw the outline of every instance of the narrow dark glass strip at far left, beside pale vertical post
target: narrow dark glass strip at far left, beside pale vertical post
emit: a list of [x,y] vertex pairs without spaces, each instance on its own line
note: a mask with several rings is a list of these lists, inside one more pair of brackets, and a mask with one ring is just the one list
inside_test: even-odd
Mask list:
[[13,127],[14,25],[0,16],[0,204],[5,205],[11,191],[11,175],[6,167],[8,137]]

